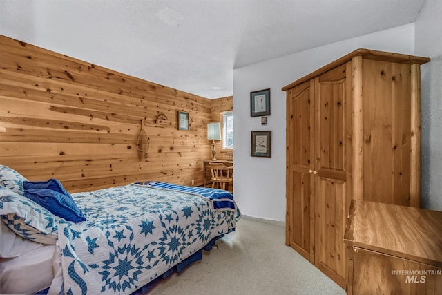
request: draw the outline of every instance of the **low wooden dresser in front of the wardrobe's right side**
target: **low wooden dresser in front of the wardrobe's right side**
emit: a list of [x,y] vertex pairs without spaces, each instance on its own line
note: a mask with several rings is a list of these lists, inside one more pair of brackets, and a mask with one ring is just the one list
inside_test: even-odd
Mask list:
[[347,294],[442,294],[442,212],[352,200]]

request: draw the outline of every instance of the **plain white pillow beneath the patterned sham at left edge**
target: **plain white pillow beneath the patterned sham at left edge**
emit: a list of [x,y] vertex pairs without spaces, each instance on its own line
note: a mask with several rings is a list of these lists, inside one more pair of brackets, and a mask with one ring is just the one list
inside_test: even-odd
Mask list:
[[42,246],[38,242],[17,236],[0,220],[0,258],[17,257]]

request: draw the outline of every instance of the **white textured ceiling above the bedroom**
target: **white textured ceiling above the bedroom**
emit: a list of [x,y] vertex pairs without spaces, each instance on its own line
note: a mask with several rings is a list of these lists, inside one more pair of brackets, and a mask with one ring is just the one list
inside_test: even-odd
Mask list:
[[233,68],[413,23],[425,0],[0,0],[0,35],[207,98]]

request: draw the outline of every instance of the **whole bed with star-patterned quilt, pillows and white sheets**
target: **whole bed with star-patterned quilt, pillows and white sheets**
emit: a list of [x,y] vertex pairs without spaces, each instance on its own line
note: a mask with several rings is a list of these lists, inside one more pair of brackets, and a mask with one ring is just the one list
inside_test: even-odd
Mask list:
[[137,294],[201,259],[240,211],[220,189],[138,182],[69,194],[0,165],[0,216],[0,293]]

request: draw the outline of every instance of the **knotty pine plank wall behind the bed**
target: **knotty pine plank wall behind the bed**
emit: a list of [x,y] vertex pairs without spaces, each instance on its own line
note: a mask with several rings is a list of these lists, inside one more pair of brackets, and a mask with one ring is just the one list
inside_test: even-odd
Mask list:
[[[0,164],[70,192],[142,180],[202,184],[206,124],[232,99],[206,99],[0,36]],[[230,106],[231,107],[231,106]],[[177,112],[189,112],[189,131]],[[169,125],[156,124],[164,114]],[[149,144],[140,160],[144,122]]]

